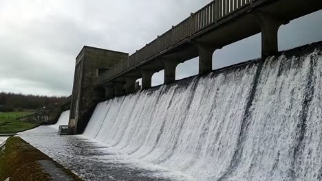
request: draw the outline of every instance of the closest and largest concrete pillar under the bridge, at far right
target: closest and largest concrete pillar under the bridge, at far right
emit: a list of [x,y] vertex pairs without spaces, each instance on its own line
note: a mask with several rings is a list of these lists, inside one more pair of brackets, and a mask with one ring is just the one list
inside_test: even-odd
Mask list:
[[261,56],[272,56],[279,51],[277,35],[283,23],[265,12],[254,12],[254,15],[261,26]]

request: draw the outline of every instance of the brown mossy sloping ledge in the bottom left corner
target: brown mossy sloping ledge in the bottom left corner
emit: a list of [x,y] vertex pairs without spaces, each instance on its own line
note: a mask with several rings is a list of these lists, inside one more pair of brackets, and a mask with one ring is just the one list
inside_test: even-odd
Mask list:
[[0,147],[0,180],[81,180],[20,137]]

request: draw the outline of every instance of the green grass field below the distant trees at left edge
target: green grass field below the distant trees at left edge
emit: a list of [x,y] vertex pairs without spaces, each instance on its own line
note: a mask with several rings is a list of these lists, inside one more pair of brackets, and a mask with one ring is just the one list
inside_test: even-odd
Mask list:
[[0,134],[14,134],[35,128],[39,124],[19,121],[17,118],[32,112],[0,112]]

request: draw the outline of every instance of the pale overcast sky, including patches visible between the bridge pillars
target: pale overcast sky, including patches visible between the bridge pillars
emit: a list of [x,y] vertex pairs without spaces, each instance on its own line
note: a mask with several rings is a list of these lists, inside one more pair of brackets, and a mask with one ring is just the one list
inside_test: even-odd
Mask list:
[[[211,0],[0,1],[0,91],[70,95],[75,58],[84,45],[133,53]],[[322,40],[322,12],[284,25],[279,49]],[[260,34],[215,51],[213,69],[257,58]],[[177,79],[197,73],[180,64]],[[162,84],[163,72],[153,75]]]

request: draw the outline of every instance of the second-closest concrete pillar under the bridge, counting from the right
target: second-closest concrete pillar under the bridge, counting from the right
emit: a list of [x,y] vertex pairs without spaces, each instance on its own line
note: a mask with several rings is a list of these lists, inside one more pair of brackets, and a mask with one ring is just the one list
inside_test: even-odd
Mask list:
[[204,43],[194,43],[199,54],[199,75],[213,71],[213,52],[217,47]]

